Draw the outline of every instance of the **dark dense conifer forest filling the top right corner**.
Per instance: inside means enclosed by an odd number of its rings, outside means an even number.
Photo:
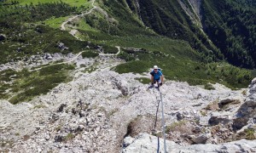
[[[256,66],[255,6],[253,0],[202,1],[204,30],[232,65]]]

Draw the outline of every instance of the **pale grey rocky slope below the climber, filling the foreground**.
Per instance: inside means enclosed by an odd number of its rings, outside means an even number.
[[[135,79],[148,73],[110,71],[118,62],[104,59],[91,73],[78,68],[72,82],[30,102],[1,100],[1,152],[152,152],[157,137],[163,150],[159,91]],[[232,91],[220,84],[206,90],[165,82],[160,92],[167,149],[256,150],[255,140],[245,140],[255,139],[254,86],[255,80],[246,94],[247,89]]]

